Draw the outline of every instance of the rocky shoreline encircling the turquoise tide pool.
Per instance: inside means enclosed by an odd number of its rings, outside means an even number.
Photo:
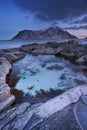
[[[62,119],[63,116],[60,115],[65,114],[66,111],[68,113],[68,110],[73,111],[73,106],[70,105],[73,103],[77,104],[82,96],[87,96],[87,85],[76,86],[76,88],[48,100],[46,103],[34,104],[33,106],[30,103],[23,103],[11,106],[15,97],[11,94],[8,84],[6,84],[6,76],[12,68],[12,63],[23,58],[27,54],[47,54],[67,58],[86,71],[86,50],[87,45],[80,45],[77,40],[62,44],[33,44],[23,45],[20,48],[0,50],[0,130],[63,130],[63,126],[61,126],[63,124],[60,125],[60,123],[54,123],[55,127],[50,127],[50,120],[51,122],[53,118],[57,120],[58,116],[58,118]],[[55,113],[57,113],[58,116],[55,115]],[[70,116],[74,121],[71,126],[68,124],[66,128],[64,126],[64,130],[67,130],[68,128],[70,130],[82,129],[76,121],[75,115]],[[70,117],[67,115],[67,119],[68,118]],[[58,129],[57,125],[60,125]]]

